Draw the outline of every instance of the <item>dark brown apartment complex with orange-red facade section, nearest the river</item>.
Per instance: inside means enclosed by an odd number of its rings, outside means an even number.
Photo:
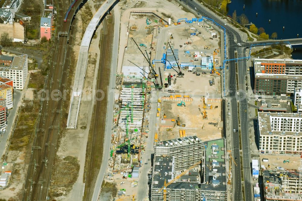
[[[254,59],[254,93],[281,95],[302,87],[302,60]]]

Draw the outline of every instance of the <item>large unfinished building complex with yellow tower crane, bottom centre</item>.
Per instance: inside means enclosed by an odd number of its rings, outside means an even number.
[[[227,200],[224,147],[224,139],[202,142],[196,136],[157,143],[151,200]]]

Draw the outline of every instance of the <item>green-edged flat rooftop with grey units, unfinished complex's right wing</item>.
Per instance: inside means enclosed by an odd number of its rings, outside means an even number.
[[[224,139],[204,142],[204,148],[206,184],[201,184],[201,189],[226,191]]]

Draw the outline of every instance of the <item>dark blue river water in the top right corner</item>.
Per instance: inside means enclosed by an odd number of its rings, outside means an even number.
[[[277,32],[277,39],[302,37],[302,1],[300,0],[231,0],[228,15],[236,10],[237,16],[245,14],[256,27],[263,27],[271,36]],[[243,9],[245,5],[245,9]],[[258,15],[256,16],[256,13]],[[271,22],[269,23],[269,20]],[[283,30],[284,27],[284,30]],[[302,46],[293,46],[294,59],[302,59]],[[296,49],[296,50],[295,50]]]

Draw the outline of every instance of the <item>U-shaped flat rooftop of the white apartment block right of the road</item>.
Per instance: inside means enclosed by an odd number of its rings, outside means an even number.
[[[258,121],[261,121],[262,129],[260,130],[261,135],[293,135],[297,134],[302,136],[302,132],[292,132],[292,131],[272,131],[271,129],[271,119],[270,117],[291,117],[291,118],[302,118],[302,114],[298,113],[270,113],[270,112],[259,112]]]

